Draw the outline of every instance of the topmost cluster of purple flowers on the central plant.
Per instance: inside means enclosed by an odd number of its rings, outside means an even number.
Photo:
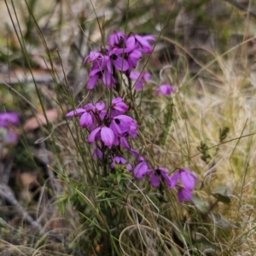
[[[152,36],[139,36],[134,33],[125,35],[123,32],[113,32],[108,37],[106,48],[100,51],[91,51],[84,59],[84,65],[90,61],[90,79],[87,89],[92,90],[96,82],[100,79],[108,88],[113,88],[116,84],[116,70],[125,73],[127,77],[131,74],[131,69],[137,67],[137,61],[142,59],[143,52],[150,54],[152,46],[148,41],[155,41]],[[142,87],[142,83],[138,85]]]

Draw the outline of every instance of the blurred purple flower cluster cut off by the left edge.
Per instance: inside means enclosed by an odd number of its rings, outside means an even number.
[[[19,137],[13,130],[14,126],[19,125],[19,113],[0,113],[0,143],[14,144]]]

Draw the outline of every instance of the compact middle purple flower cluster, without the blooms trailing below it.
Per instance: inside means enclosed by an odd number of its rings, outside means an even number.
[[[90,131],[88,143],[101,141],[106,147],[122,146],[130,148],[128,137],[137,137],[138,125],[134,119],[125,115],[128,106],[120,97],[112,100],[111,108],[106,109],[104,102],[89,103],[84,108],[77,108],[66,114],[66,117],[79,117],[81,127]],[[100,155],[100,154],[97,154]]]

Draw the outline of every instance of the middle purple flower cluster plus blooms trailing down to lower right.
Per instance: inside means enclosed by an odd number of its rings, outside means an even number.
[[[111,149],[114,146],[127,149],[136,158],[136,165],[133,168],[123,156],[115,153],[118,150],[110,150],[108,159],[110,159],[111,169],[114,169],[115,165],[125,165],[125,169],[132,172],[137,179],[148,177],[153,187],[158,187],[161,181],[166,182],[169,189],[177,187],[178,201],[191,200],[191,191],[195,189],[197,180],[195,174],[188,169],[180,169],[170,177],[163,167],[149,169],[143,156],[131,148],[127,139],[137,137],[138,125],[134,119],[125,114],[128,109],[123,99],[117,97],[112,100],[110,108],[106,108],[104,102],[98,102],[96,105],[89,103],[84,108],[77,108],[67,113],[66,117],[79,117],[79,125],[90,132],[87,142],[96,142],[93,152],[96,159],[103,158],[104,147]]]

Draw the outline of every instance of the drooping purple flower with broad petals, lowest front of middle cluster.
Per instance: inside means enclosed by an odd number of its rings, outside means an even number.
[[[88,143],[93,143],[96,140],[102,141],[105,146],[111,148],[114,141],[113,131],[107,126],[97,127],[95,130],[90,132],[90,136],[88,137]]]

